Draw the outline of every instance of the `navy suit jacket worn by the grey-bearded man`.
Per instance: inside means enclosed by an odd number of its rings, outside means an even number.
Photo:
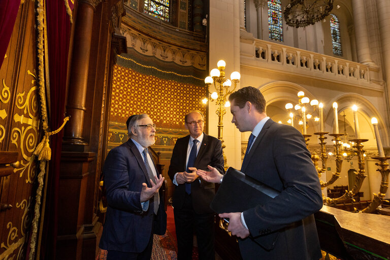
[[[154,165],[150,167],[155,168]],[[161,197],[156,216],[153,216],[153,197],[149,200],[148,210],[142,210],[142,183],[147,183],[148,187],[151,184],[143,157],[132,139],[108,153],[103,174],[108,207],[100,248],[144,251],[152,233],[165,234],[167,214]]]

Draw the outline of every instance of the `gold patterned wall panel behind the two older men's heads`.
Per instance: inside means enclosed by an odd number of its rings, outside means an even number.
[[[186,112],[206,112],[200,104],[204,94],[203,86],[164,80],[115,65],[110,122],[124,124],[131,114],[147,113],[157,127],[183,129]]]

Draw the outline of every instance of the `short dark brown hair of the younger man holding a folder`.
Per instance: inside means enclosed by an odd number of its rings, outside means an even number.
[[[234,104],[239,108],[243,108],[249,101],[259,113],[266,111],[266,100],[260,90],[255,87],[243,87],[233,92],[229,96],[229,101],[234,101]]]

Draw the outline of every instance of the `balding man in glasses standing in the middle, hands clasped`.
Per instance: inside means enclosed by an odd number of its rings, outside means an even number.
[[[168,171],[176,185],[173,211],[178,260],[191,259],[194,228],[199,259],[213,260],[214,212],[210,209],[210,202],[215,196],[215,186],[201,180],[194,171],[207,170],[207,165],[211,165],[223,174],[221,141],[203,133],[204,116],[200,111],[189,112],[184,123],[190,135],[176,141]]]

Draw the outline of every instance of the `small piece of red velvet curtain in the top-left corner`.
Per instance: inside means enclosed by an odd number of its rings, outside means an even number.
[[[0,67],[3,64],[11,34],[14,30],[19,6],[20,0],[1,0],[0,3],[0,39],[2,39],[0,41]]]

